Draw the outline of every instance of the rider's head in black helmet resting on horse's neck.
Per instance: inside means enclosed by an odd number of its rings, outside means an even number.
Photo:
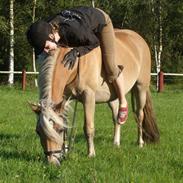
[[[43,20],[33,23],[27,31],[27,40],[34,47],[36,55],[55,50],[59,38],[58,32]]]

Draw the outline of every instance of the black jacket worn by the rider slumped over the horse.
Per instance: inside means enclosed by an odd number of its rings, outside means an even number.
[[[61,11],[48,22],[59,25],[59,43],[74,47],[80,56],[99,46],[98,36],[106,25],[103,13],[91,7]]]

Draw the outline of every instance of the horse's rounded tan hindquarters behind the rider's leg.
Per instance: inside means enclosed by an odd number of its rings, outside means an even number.
[[[126,29],[115,31],[115,35],[116,62],[124,66],[125,86],[142,79],[149,83],[151,56],[145,40],[136,32]]]

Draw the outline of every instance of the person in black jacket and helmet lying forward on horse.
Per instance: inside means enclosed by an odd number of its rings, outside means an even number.
[[[128,116],[122,68],[115,63],[115,35],[112,21],[104,11],[92,7],[63,10],[53,17],[38,20],[27,31],[28,42],[36,55],[49,53],[57,46],[73,47],[63,60],[72,69],[77,57],[89,53],[100,45],[108,82],[113,83],[119,98],[118,123],[124,124]]]

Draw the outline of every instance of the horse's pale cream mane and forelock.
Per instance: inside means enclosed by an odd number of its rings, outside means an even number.
[[[40,122],[40,125],[42,126],[43,131],[48,136],[48,138],[51,138],[60,144],[61,138],[58,133],[53,129],[53,124],[51,124],[51,121],[54,121],[59,126],[66,128],[68,127],[63,120],[65,116],[63,116],[63,119],[61,119],[59,115],[54,112],[54,104],[51,99],[54,68],[56,66],[59,53],[60,49],[57,49],[54,54],[49,55],[45,59],[39,61],[40,65],[38,83],[41,112],[43,114],[43,120]],[[69,101],[66,102],[64,106],[65,113],[67,113],[68,111],[69,103]]]

